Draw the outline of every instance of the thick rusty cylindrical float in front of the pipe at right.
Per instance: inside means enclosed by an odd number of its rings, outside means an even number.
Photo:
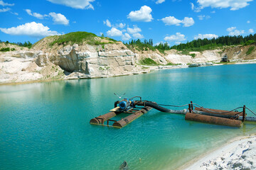
[[[200,115],[195,113],[186,113],[185,120],[192,120],[202,123],[211,123],[215,125],[228,125],[233,127],[240,127],[242,121],[228,118],[218,118],[210,115]]]

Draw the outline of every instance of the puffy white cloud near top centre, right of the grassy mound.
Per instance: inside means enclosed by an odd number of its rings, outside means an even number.
[[[127,18],[131,21],[150,22],[153,20],[151,11],[152,9],[149,6],[142,6],[139,11],[131,11]]]

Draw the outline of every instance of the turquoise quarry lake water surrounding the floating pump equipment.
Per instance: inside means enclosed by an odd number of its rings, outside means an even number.
[[[255,71],[256,64],[240,64],[0,86],[0,169],[119,169],[124,160],[129,169],[176,169],[256,132],[256,124],[230,128],[156,110],[122,129],[90,125],[90,119],[114,107],[114,92],[157,103],[256,111]]]

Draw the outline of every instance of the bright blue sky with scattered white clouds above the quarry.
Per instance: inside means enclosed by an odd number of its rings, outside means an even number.
[[[87,31],[115,40],[175,45],[255,34],[254,0],[0,0],[0,40],[36,42]]]

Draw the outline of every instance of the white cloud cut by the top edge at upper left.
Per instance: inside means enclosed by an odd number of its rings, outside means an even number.
[[[48,1],[54,4],[69,6],[71,8],[94,9],[91,3],[95,0],[48,0]]]

